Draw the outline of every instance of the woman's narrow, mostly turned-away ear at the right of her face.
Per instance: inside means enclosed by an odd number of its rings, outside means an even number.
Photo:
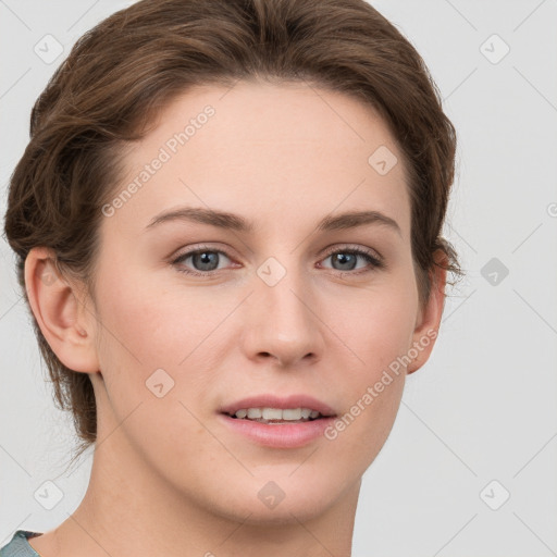
[[[435,252],[435,261],[443,265],[447,263],[447,256],[438,250]],[[416,329],[412,334],[412,352],[418,352],[416,358],[408,364],[407,374],[418,371],[430,358],[433,346],[437,338],[443,308],[445,306],[445,285],[447,272],[443,267],[434,265],[430,272],[431,292],[430,298],[418,312]]]

